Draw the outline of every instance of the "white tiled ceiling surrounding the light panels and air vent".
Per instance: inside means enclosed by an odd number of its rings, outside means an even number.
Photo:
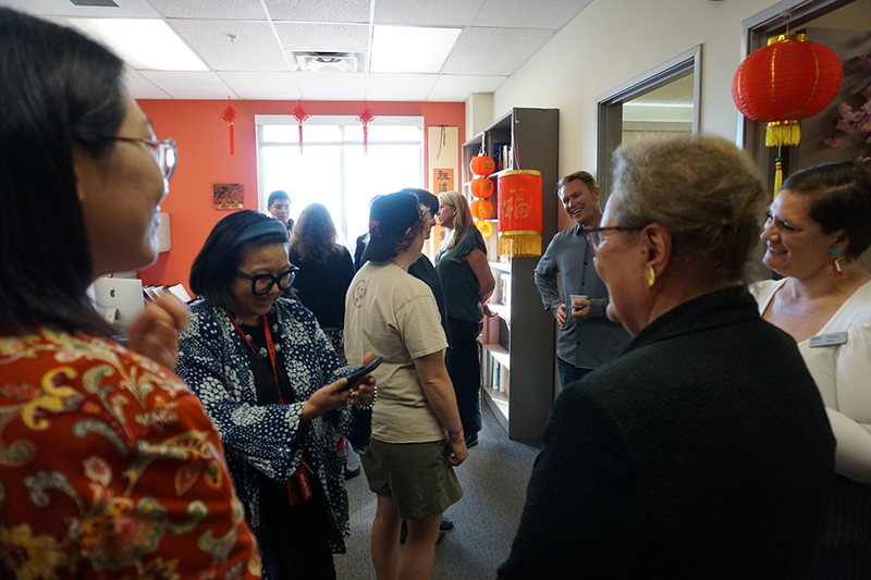
[[[76,0],[87,2],[88,0]],[[130,69],[137,99],[464,101],[492,92],[592,0],[0,0],[68,17],[164,20],[208,72]],[[363,52],[376,24],[462,28],[438,74],[304,72],[290,51]],[[231,36],[235,38],[231,41]]]

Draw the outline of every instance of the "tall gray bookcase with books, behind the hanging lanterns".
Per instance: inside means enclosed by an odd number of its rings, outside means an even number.
[[[512,163],[504,168],[536,170],[542,182],[542,251],[556,233],[559,200],[555,194],[559,171],[560,112],[557,109],[515,108],[487,129],[463,145],[464,193],[469,196],[469,159],[484,152],[493,157],[494,144],[511,146]],[[504,147],[500,147],[504,150]],[[498,168],[499,169],[499,168]],[[498,318],[489,319],[482,341],[483,400],[516,441],[542,436],[553,400],[554,320],[541,304],[533,271],[539,258],[499,261],[496,236],[498,178],[492,176],[494,194],[493,233],[488,238],[496,289],[490,298]],[[504,303],[504,304],[502,304]]]

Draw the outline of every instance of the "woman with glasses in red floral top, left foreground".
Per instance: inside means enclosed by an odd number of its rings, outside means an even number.
[[[127,349],[87,296],[156,259],[175,165],[123,75],[0,8],[0,577],[259,577],[218,433],[168,368],[183,306],[151,305]]]

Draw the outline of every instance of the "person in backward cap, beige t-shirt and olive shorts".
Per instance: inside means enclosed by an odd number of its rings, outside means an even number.
[[[447,347],[430,288],[408,273],[430,217],[407,193],[380,197],[369,212],[364,267],[345,298],[345,354],[383,357],[372,374],[380,397],[361,456],[378,505],[370,550],[379,580],[429,578],[442,513],[463,496],[453,467],[467,457],[444,366]],[[402,520],[408,535],[398,557]]]

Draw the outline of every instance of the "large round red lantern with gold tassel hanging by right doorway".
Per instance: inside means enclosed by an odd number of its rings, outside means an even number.
[[[844,69],[829,47],[809,42],[803,34],[769,39],[751,52],[735,72],[732,98],[751,121],[768,123],[765,145],[798,145],[798,122],[825,109],[841,90]],[[774,193],[783,181],[783,159],[777,156]]]

